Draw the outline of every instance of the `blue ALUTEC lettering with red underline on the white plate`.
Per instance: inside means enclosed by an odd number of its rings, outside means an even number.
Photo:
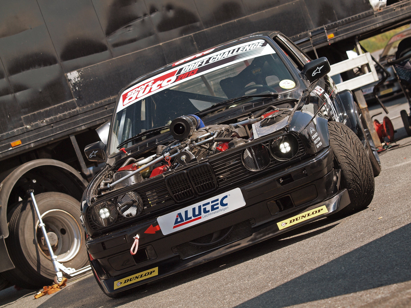
[[[210,202],[205,202],[202,205],[198,205],[198,206],[196,205],[192,207],[191,209],[186,209],[184,211],[184,216],[182,215],[182,212],[177,213],[177,215],[175,216],[175,222],[174,222],[173,229],[178,228],[182,225],[186,225],[187,223],[192,223],[193,221],[197,221],[201,219],[202,214],[207,214],[207,213],[214,212],[217,210],[224,211],[224,209],[220,209],[220,206],[226,207],[228,205],[228,203],[225,202],[227,197],[228,195],[225,195],[221,199],[217,198]]]

